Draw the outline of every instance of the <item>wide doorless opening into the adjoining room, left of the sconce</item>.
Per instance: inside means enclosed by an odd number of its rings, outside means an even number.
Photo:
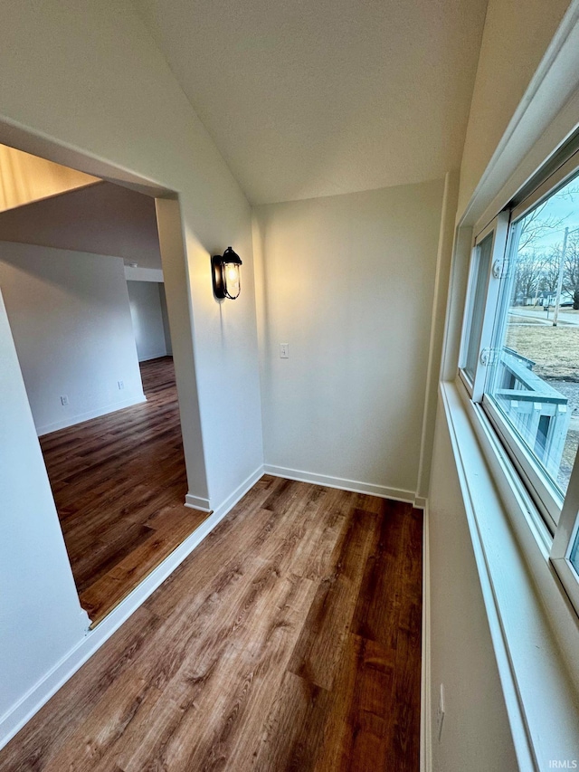
[[[155,199],[7,146],[0,174],[0,286],[94,626],[209,514],[184,504]]]

